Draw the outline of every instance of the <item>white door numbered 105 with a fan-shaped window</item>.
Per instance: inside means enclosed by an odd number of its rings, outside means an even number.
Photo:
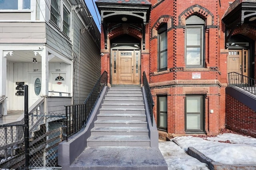
[[[51,85],[49,87],[49,95],[68,96],[67,94],[65,94],[67,92],[66,82],[66,73],[51,73]]]

